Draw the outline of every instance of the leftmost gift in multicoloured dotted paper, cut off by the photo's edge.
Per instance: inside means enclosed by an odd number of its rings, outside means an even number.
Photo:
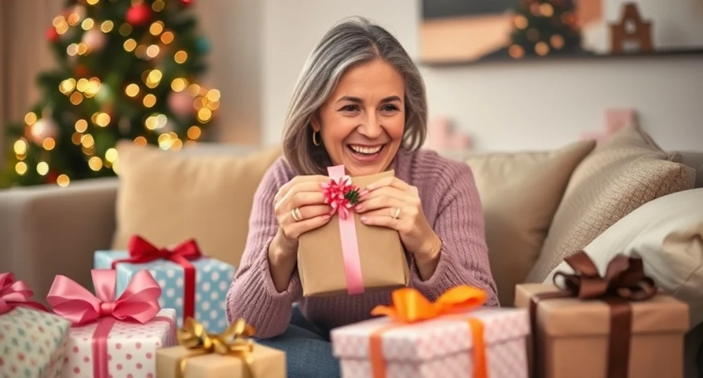
[[[0,377],[60,377],[70,322],[31,301],[32,289],[0,273]]]

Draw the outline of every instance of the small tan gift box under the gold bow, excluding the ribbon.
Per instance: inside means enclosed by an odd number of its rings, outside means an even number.
[[[156,376],[176,378],[179,375],[181,358],[187,356],[183,378],[285,378],[285,353],[278,349],[254,344],[250,352],[251,370],[246,369],[242,358],[222,356],[217,353],[197,355],[184,346],[160,348],[156,351]],[[251,372],[251,374],[248,374]]]

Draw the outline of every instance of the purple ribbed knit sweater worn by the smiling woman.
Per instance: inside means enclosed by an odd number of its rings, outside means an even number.
[[[472,285],[488,293],[486,306],[498,306],[481,202],[467,164],[429,150],[412,153],[401,150],[392,168],[396,177],[418,188],[425,217],[443,243],[437,270],[428,280],[420,278],[411,259],[410,286],[434,300],[456,285]],[[295,301],[299,301],[308,320],[329,328],[366,320],[371,318],[372,308],[390,304],[390,292],[304,298],[297,269],[288,289],[280,293],[276,290],[267,257],[269,244],[278,230],[273,197],[294,176],[290,166],[280,158],[262,178],[254,195],[247,245],[227,293],[228,321],[244,318],[256,327],[256,337],[262,339],[285,332]]]

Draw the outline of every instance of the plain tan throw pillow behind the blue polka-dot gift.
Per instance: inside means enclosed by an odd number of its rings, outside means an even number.
[[[157,247],[193,237],[203,253],[238,266],[254,192],[281,153],[276,147],[247,155],[192,155],[119,143],[112,248],[124,249],[134,234]]]

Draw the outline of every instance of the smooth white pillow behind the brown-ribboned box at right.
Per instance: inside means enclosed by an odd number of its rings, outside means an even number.
[[[600,274],[616,254],[638,253],[657,286],[688,304],[691,327],[703,322],[703,188],[643,204],[583,250]],[[573,273],[562,261],[544,282],[551,283],[557,271]]]

